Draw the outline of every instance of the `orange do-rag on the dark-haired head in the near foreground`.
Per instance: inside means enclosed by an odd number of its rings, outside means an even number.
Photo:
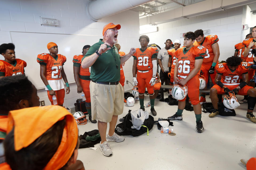
[[[15,126],[14,149],[19,151],[33,143],[57,121],[63,119],[66,120],[66,125],[63,130],[61,143],[44,168],[44,170],[57,170],[68,162],[74,152],[78,139],[77,123],[67,109],[51,105],[10,111],[7,133]]]

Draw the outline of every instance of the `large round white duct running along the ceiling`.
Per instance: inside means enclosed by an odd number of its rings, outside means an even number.
[[[152,0],[151,0],[152,1]],[[86,6],[87,15],[94,21],[143,5],[150,0],[97,0]]]

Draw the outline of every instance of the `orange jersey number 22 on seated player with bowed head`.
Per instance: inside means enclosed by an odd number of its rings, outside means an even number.
[[[247,62],[242,62],[234,71],[229,69],[227,63],[218,64],[215,69],[217,74],[221,74],[221,82],[224,85],[238,85],[240,84],[240,76],[246,74],[248,70],[245,68],[248,65]]]

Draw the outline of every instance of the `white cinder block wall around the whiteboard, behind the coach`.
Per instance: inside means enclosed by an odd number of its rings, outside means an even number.
[[[0,44],[11,43],[10,31],[18,31],[91,35],[95,36],[95,40],[88,42],[87,44],[93,45],[99,41],[98,38],[96,38],[97,36],[102,37],[103,26],[113,22],[114,24],[121,25],[121,29],[118,33],[118,42],[121,45],[121,51],[128,53],[131,47],[139,47],[138,12],[131,10],[124,11],[116,15],[106,17],[99,22],[94,22],[86,14],[85,9],[87,3],[89,3],[88,0],[1,0]],[[57,18],[59,20],[59,27],[40,25],[39,16]],[[15,42],[12,43],[15,44]],[[19,44],[15,45],[18,46]],[[81,48],[83,45],[85,44],[78,44]],[[33,47],[28,47],[28,49],[24,50],[29,52],[29,48]],[[17,56],[18,53],[19,52],[16,51]],[[63,53],[63,55],[65,54]],[[23,58],[22,56],[18,56],[18,58],[26,61],[26,58]],[[1,56],[0,59],[3,60],[4,58]],[[38,63],[35,61],[35,64]],[[132,65],[133,58],[130,58],[123,67],[126,77],[125,80],[129,80],[130,82],[132,82],[133,77],[131,70]],[[29,65],[27,67],[29,67]],[[29,75],[29,73],[26,74]],[[125,90],[129,90],[131,88],[131,84],[125,84]],[[70,90],[70,94],[65,95],[63,105],[67,107],[74,107],[76,99],[79,98],[75,83],[70,84]],[[50,104],[45,90],[38,90],[38,96],[40,97],[40,101],[45,100],[46,105]]]

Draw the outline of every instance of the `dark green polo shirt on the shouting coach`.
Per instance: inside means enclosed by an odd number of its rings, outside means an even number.
[[[82,58],[88,57],[95,53],[99,49],[101,44],[104,44],[102,39],[99,39],[98,43],[93,44],[88,52]],[[107,46],[110,47],[110,46]],[[107,50],[101,56],[97,58],[94,64],[91,66],[90,78],[96,82],[117,82],[120,80],[120,56],[117,48],[113,45],[111,49]]]

